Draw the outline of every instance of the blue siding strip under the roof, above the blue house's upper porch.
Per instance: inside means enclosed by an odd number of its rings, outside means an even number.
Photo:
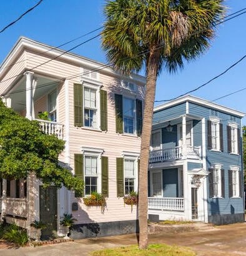
[[[180,105],[170,107],[169,109],[164,109],[162,111],[155,112],[153,115],[153,124],[184,115],[185,111],[186,104],[182,103]]]

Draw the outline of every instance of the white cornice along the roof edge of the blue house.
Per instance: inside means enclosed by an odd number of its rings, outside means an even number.
[[[245,113],[240,112],[240,111],[235,111],[235,109],[230,109],[230,107],[225,107],[219,104],[216,104],[214,102],[210,102],[207,101],[205,99],[200,99],[199,97],[195,97],[195,96],[184,96],[184,97],[180,97],[179,99],[175,99],[174,101],[170,101],[164,104],[161,104],[157,107],[154,107],[154,112],[158,112],[161,111],[163,109],[167,109],[169,107],[173,107],[175,105],[179,105],[185,102],[191,102],[191,103],[195,103],[197,105],[200,106],[205,106],[205,107],[211,107],[212,109],[216,109],[218,111],[222,111],[222,112],[226,112],[229,114],[232,114],[234,116],[239,116],[239,117],[244,117]]]

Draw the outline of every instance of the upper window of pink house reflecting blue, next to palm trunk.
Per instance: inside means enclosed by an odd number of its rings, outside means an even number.
[[[135,133],[135,100],[123,98],[124,133]]]

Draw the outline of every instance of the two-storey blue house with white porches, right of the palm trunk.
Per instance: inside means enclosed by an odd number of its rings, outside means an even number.
[[[155,107],[149,219],[244,222],[242,117],[193,96]]]

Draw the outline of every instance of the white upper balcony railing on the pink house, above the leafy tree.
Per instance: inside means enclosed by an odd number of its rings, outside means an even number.
[[[58,139],[63,139],[63,128],[64,125],[59,122],[51,122],[42,119],[36,119],[39,122],[41,130],[49,135],[56,135]]]

